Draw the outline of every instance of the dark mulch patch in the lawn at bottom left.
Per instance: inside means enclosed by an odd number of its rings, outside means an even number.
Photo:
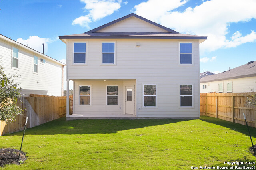
[[[20,160],[18,160],[20,154]],[[6,164],[22,164],[27,159],[24,152],[18,149],[0,149],[0,167]]]

